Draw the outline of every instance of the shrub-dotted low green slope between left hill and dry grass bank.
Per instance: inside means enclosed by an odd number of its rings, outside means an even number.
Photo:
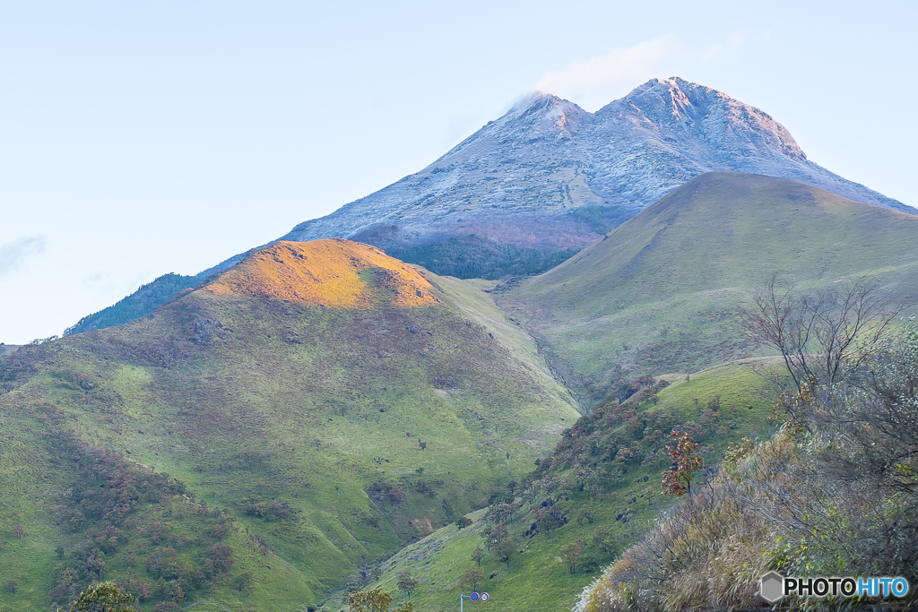
[[[517,544],[515,556],[508,567],[492,547],[482,559],[485,579],[477,587],[491,601],[466,601],[465,606],[570,609],[602,567],[639,540],[659,511],[673,503],[660,495],[660,474],[670,463],[665,447],[671,443],[666,437],[671,428],[692,431],[711,466],[722,460],[728,443],[749,436],[765,440],[773,433],[772,397],[765,380],[752,370],[753,363],[722,365],[691,376],[689,382],[684,374],[672,374],[659,379],[672,383],[650,382],[621,405],[607,397],[565,430],[554,453],[520,480],[514,495],[496,489],[491,493],[494,505],[469,515],[470,527],[450,525],[399,551],[380,567],[372,585],[404,601],[406,596],[397,592],[397,573],[409,570],[420,582],[411,595],[419,609],[452,609],[460,593],[469,593],[459,581],[476,564],[473,551],[485,547],[483,536],[504,520]],[[511,517],[499,518],[499,504],[511,497]],[[549,521],[555,527],[546,530],[543,521],[546,516],[554,519],[551,513],[562,518]],[[571,573],[563,549],[577,540],[586,548]],[[346,607],[343,595],[329,602],[330,609]]]

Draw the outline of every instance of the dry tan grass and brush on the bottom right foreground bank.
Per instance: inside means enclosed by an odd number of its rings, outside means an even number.
[[[913,580],[913,495],[877,486],[869,473],[831,473],[838,451],[837,441],[822,434],[782,429],[625,551],[584,590],[575,610],[758,607],[758,579],[770,570]],[[913,473],[913,457],[907,469]],[[782,603],[840,605],[832,597]]]

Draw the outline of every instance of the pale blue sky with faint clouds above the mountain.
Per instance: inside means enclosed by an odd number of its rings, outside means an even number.
[[[681,76],[918,206],[918,3],[0,0],[0,341],[399,178],[533,90]]]

